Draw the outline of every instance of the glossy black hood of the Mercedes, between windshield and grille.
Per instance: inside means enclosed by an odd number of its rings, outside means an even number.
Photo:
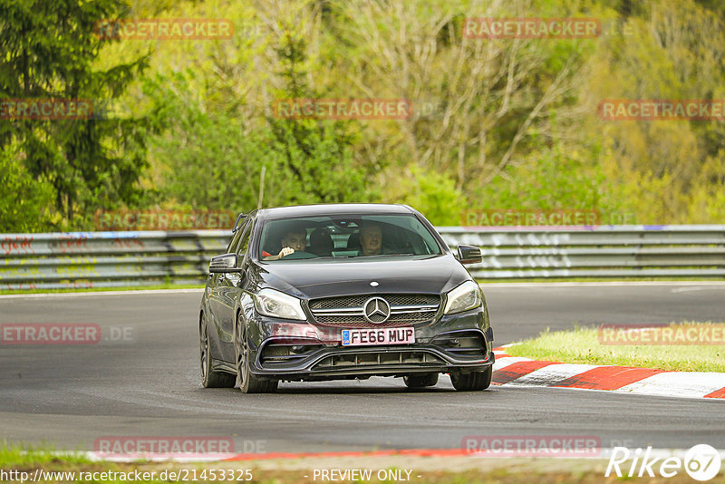
[[[443,293],[469,280],[451,255],[266,264],[264,286],[304,299],[375,293]],[[371,286],[377,282],[377,286]]]

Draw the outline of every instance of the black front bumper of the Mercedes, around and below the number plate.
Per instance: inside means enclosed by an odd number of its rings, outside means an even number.
[[[343,346],[343,328],[260,319],[251,372],[279,380],[333,380],[411,373],[484,371],[494,363],[493,331],[482,309],[443,316],[415,328],[416,343]],[[296,328],[296,329],[295,329]],[[255,348],[256,346],[256,348]]]

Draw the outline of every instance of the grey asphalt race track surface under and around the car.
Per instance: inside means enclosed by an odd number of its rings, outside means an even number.
[[[455,392],[448,378],[424,392],[384,378],[283,383],[268,395],[205,390],[200,293],[0,297],[0,324],[99,324],[104,338],[0,345],[0,440],[92,450],[110,436],[224,436],[237,451],[270,452],[459,448],[470,435],[566,434],[596,436],[604,447],[725,449],[725,402],[707,399],[535,387]],[[485,293],[497,344],[575,324],[725,321],[725,283],[499,285]],[[124,330],[128,341],[105,340]]]

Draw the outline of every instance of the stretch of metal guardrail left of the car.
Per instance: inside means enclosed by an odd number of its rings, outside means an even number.
[[[229,230],[0,236],[0,289],[203,284]]]

